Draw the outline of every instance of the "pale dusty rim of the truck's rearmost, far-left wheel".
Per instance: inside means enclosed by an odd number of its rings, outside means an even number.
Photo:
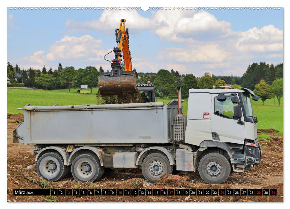
[[[47,156],[42,159],[41,164],[41,174],[46,179],[53,179],[55,176],[58,175],[60,170],[60,164],[56,158]]]

